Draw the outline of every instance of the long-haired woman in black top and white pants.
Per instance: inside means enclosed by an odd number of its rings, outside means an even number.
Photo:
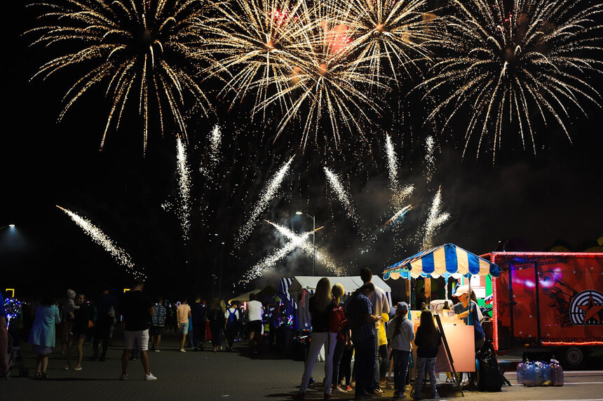
[[[312,369],[320,348],[325,346],[325,400],[331,397],[331,379],[333,375],[333,351],[337,344],[337,333],[329,331],[329,318],[335,304],[331,298],[331,283],[326,277],[318,280],[316,292],[308,302],[310,318],[312,322],[312,336],[310,341],[310,351],[302,378],[302,386],[299,387],[299,393],[295,396],[297,399],[306,397],[306,389],[312,375]]]

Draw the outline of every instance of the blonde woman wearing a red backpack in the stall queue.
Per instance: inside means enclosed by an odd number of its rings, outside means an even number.
[[[333,296],[333,304],[336,305],[336,309],[331,313],[329,320],[329,331],[337,333],[337,344],[333,352],[333,378],[331,383],[332,393],[347,393],[346,390],[341,388],[339,380],[339,365],[341,364],[341,356],[344,355],[344,348],[346,344],[350,343],[350,329],[347,327],[346,313],[344,311],[343,303],[341,303],[341,297],[345,294],[344,286],[340,283],[334,284],[331,288],[331,295]]]

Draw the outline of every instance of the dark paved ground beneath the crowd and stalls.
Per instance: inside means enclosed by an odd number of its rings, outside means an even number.
[[[0,401],[19,400],[291,400],[299,390],[304,363],[282,359],[267,346],[262,353],[251,357],[245,343],[237,342],[235,352],[213,353],[211,344],[205,351],[179,352],[177,339],[168,334],[162,339],[161,353],[149,353],[151,372],[157,381],[144,381],[140,360],[130,361],[128,381],[119,381],[121,374],[121,345],[116,337],[109,348],[105,362],[89,361],[92,349],[85,343],[81,371],[63,369],[65,355],[60,347],[50,355],[50,379],[32,379],[35,357],[24,345],[22,367],[29,377],[18,377],[18,367],[13,368],[13,378],[0,379]],[[321,381],[324,364],[317,363],[313,376]],[[600,367],[599,367],[600,369]],[[515,372],[506,374],[513,383]],[[393,389],[386,388],[380,400],[391,400]],[[438,384],[442,399],[462,397],[445,383]],[[408,396],[406,400],[412,400]],[[602,400],[603,371],[566,372],[563,387],[524,386],[503,387],[500,393],[464,391],[467,400]],[[307,400],[322,400],[320,385],[311,386]],[[333,395],[333,400],[352,400],[353,393]]]

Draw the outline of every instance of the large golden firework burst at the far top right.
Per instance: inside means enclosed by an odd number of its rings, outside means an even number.
[[[452,119],[470,110],[466,153],[477,136],[477,157],[491,146],[493,162],[507,124],[536,154],[535,121],[556,123],[571,141],[564,119],[571,109],[584,113],[581,100],[600,107],[599,93],[586,79],[601,62],[603,7],[586,0],[454,1],[456,14],[445,18],[443,47],[452,57],[435,59],[433,77],[419,84],[435,100],[427,117]],[[464,118],[464,116],[463,116]],[[486,143],[486,145],[485,145]]]

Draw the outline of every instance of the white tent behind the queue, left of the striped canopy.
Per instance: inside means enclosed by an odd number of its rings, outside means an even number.
[[[292,283],[289,285],[288,292],[292,299],[297,303],[297,324],[299,329],[310,327],[310,312],[308,310],[308,300],[311,294],[316,290],[316,284],[320,276],[295,276]],[[346,294],[351,294],[358,288],[362,287],[363,280],[360,276],[341,276],[341,277],[327,277],[331,283],[341,283],[344,286]],[[373,276],[371,282],[384,290],[386,293],[387,301],[391,307],[391,287],[387,285],[384,280],[381,280],[379,276]]]

